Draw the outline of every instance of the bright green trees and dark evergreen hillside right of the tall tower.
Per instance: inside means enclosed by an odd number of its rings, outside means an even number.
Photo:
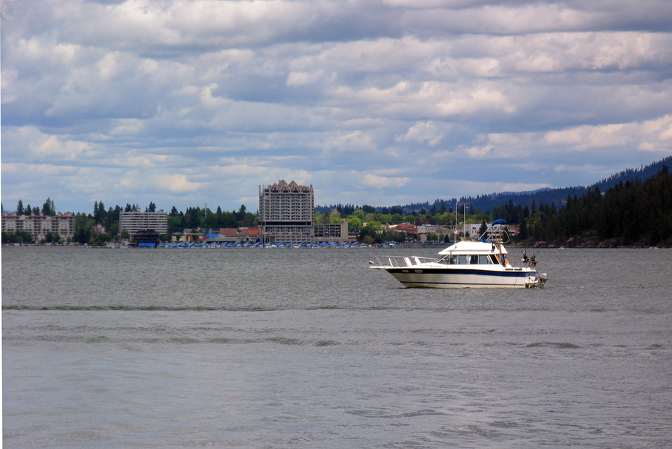
[[[672,175],[668,166],[663,166],[647,180],[619,181],[606,192],[591,187],[585,194],[568,195],[557,205],[531,201],[530,206],[522,206],[510,200],[492,211],[474,211],[467,205],[453,211],[442,203],[430,211],[422,208],[413,213],[400,213],[400,208],[374,212],[357,208],[348,216],[350,231],[376,241],[398,240],[398,236],[384,234],[384,224],[409,222],[452,228],[456,220],[482,223],[498,218],[503,218],[509,227],[517,226],[515,239],[529,245],[547,242],[603,247],[672,246]],[[457,227],[461,228],[461,224]]]

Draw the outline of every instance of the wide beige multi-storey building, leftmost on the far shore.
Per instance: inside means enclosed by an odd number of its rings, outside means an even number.
[[[2,231],[8,234],[28,232],[34,242],[45,240],[48,233],[58,234],[59,238],[67,240],[75,235],[75,214],[66,212],[52,216],[6,213],[2,215]]]

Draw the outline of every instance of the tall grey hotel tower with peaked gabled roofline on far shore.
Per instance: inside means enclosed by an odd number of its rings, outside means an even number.
[[[304,242],[315,236],[313,186],[280,180],[259,186],[259,227],[264,241]]]

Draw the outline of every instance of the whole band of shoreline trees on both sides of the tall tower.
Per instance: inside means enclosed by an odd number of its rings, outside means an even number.
[[[605,192],[594,185],[583,194],[568,194],[557,203],[538,203],[533,199],[529,205],[522,205],[509,199],[507,204],[495,206],[491,211],[475,208],[473,204],[458,204],[457,211],[454,211],[452,206],[454,203],[440,200],[430,208],[423,206],[419,211],[406,212],[402,206],[383,208],[337,204],[316,208],[315,222],[334,223],[347,218],[349,232],[358,234],[360,239],[402,241],[414,236],[401,236],[387,231],[385,224],[409,222],[460,229],[461,222],[482,223],[503,218],[510,227],[517,225],[517,239],[526,244],[545,241],[556,245],[672,246],[672,175],[667,165],[662,166],[651,178],[621,180]],[[136,204],[126,204],[125,208],[106,208],[102,201],[96,201],[93,213],[76,214],[73,241],[104,244],[115,238],[127,238],[119,234],[120,212],[135,211],[138,207]],[[145,208],[147,212],[155,210],[154,203]],[[51,199],[47,199],[42,208],[24,207],[22,201],[19,201],[16,212],[25,215],[56,213]],[[101,224],[105,231],[97,224]],[[254,227],[257,224],[258,216],[248,212],[244,205],[238,211],[230,212],[222,211],[220,207],[214,212],[199,207],[187,208],[182,212],[173,206],[168,213],[169,232],[163,238],[167,239],[170,234],[180,233],[184,229]],[[29,235],[17,234],[10,236],[3,233],[3,242],[27,241],[29,238]],[[446,235],[436,237],[445,239]],[[59,236],[49,237],[52,241],[59,241]]]

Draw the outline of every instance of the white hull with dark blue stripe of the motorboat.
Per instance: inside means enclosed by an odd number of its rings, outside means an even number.
[[[483,270],[466,268],[385,268],[406,287],[423,288],[525,288],[542,281],[528,269]]]

